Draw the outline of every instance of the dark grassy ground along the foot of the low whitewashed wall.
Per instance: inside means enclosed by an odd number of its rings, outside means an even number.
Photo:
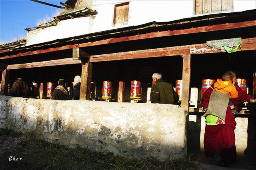
[[[2,135],[2,134],[1,134]],[[90,169],[90,170],[196,170],[198,163],[188,156],[178,160],[160,162],[154,158],[131,158],[102,154],[86,148],[67,148],[54,142],[36,139],[26,133],[26,145],[1,153],[0,169]],[[7,136],[8,137],[8,136]],[[24,138],[24,137],[22,137]],[[9,161],[10,155],[22,161]]]

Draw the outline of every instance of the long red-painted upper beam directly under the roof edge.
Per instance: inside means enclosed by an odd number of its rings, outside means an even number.
[[[99,40],[95,42],[86,42],[86,43],[72,44],[72,45],[70,44],[66,46],[48,48],[44,50],[19,52],[18,54],[14,54],[10,56],[2,56],[0,57],[0,59],[42,54],[42,53],[67,50],[72,48],[82,48],[82,47],[96,46],[96,45],[102,45],[102,44],[111,44],[116,42],[126,42],[131,40],[143,40],[148,38],[159,38],[159,37],[174,36],[174,35],[193,34],[198,32],[211,32],[211,31],[219,31],[219,30],[230,30],[230,29],[236,29],[236,28],[246,28],[246,27],[253,27],[255,25],[256,25],[256,21],[253,20],[253,21],[244,21],[244,22],[236,22],[236,23],[216,24],[211,26],[201,26],[197,28],[188,28],[184,30],[157,31],[157,32],[150,32],[147,34],[139,34],[134,36],[108,38],[106,40]],[[2,54],[3,52],[0,51],[0,53]]]

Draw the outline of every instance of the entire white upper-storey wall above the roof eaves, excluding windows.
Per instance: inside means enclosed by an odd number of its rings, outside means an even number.
[[[115,5],[124,2],[129,2],[128,24],[113,26]],[[254,0],[234,0],[232,12],[255,8]],[[195,16],[193,0],[94,0],[92,9],[98,14],[63,20],[57,26],[28,32],[26,46],[152,21],[168,22]]]

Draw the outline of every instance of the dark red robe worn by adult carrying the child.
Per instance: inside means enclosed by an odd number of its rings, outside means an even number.
[[[214,88],[214,85],[212,86]],[[246,94],[237,83],[235,83],[235,87],[238,92],[238,98],[231,100],[234,102],[234,106],[237,110],[237,106],[242,104],[244,100],[249,102],[253,97]],[[204,92],[204,96],[202,97],[203,108],[208,107],[211,93],[212,88],[208,88]],[[227,164],[236,163],[235,118],[236,117],[232,115],[230,107],[228,107],[225,124],[216,126],[206,125],[204,132],[204,153],[206,157],[220,153],[222,160],[226,161]]]

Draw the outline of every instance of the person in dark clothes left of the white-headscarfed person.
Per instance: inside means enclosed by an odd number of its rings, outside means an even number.
[[[68,89],[65,87],[65,80],[60,79],[58,86],[54,89],[52,94],[53,100],[70,100],[71,97],[68,93]]]

